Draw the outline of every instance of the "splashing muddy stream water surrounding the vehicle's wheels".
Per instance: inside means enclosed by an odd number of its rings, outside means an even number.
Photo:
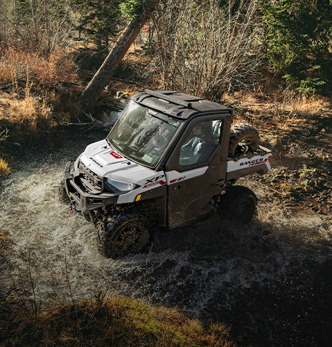
[[[107,260],[91,223],[58,201],[67,160],[106,133],[65,130],[21,150],[14,181],[0,191],[0,228],[14,240],[1,291],[38,301],[91,298],[96,291],[175,305],[205,323],[224,321],[241,345],[330,346],[331,219],[285,206],[247,179],[259,197],[247,226],[214,215],[187,228],[158,232],[150,253]],[[234,218],[234,222],[236,218]],[[26,293],[24,293],[26,291]]]

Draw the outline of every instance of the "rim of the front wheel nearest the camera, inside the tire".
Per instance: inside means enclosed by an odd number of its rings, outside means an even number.
[[[134,251],[137,250],[143,241],[144,226],[141,222],[127,223],[120,230],[114,244],[121,250]]]

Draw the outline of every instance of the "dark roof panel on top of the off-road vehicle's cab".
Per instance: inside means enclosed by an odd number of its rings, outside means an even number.
[[[148,108],[166,113],[166,115],[181,119],[207,113],[231,113],[229,108],[225,108],[225,106],[218,103],[170,90],[158,90],[156,92],[144,90],[144,92],[134,94],[132,100]]]

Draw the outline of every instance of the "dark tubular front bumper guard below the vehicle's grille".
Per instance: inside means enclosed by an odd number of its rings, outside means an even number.
[[[104,192],[93,194],[83,185],[80,178],[80,170],[74,171],[73,162],[67,162],[64,169],[64,189],[74,210],[83,213],[117,203],[119,194]]]

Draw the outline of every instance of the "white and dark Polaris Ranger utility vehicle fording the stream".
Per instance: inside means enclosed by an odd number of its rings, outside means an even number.
[[[234,183],[266,174],[272,153],[255,128],[232,120],[195,96],[135,94],[106,139],[67,163],[60,196],[94,223],[106,257],[143,251],[152,226],[185,226],[214,210],[250,221],[256,196]]]

